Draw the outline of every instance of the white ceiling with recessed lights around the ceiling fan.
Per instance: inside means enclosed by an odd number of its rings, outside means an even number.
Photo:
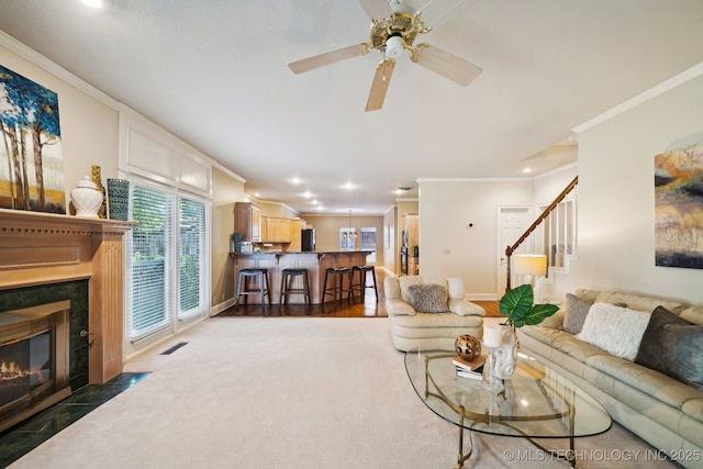
[[[323,213],[383,213],[417,178],[562,166],[571,129],[703,62],[701,0],[467,0],[422,41],[483,74],[462,88],[401,57],[365,113],[380,53],[287,67],[368,41],[357,1],[112,3],[2,0],[0,29],[301,213],[305,190]]]

